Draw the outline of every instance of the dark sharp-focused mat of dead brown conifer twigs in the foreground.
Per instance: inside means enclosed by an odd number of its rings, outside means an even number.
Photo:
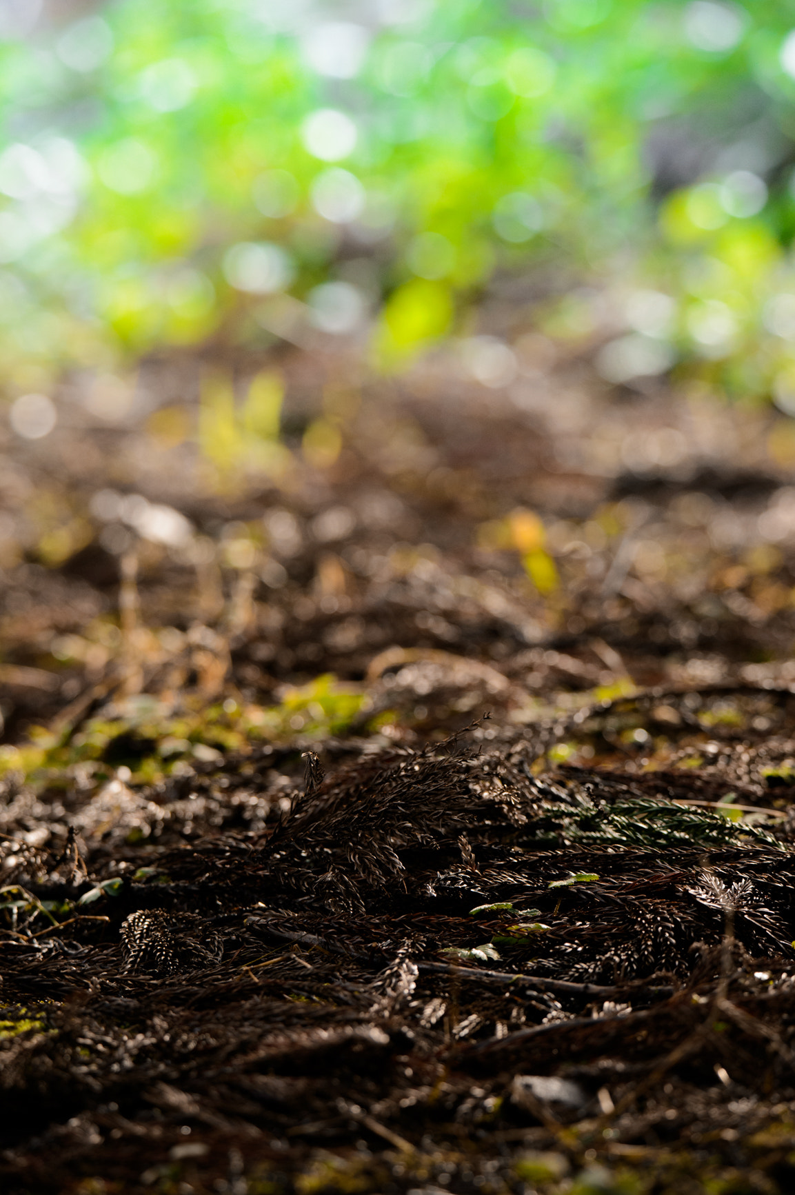
[[[795,1064],[791,852],[481,733],[310,770],[258,834],[123,860],[6,839],[6,1181],[212,1189],[232,1156],[300,1187],[311,1156],[320,1189],[520,1189],[649,1139],[769,1153],[747,1138],[782,1132]]]

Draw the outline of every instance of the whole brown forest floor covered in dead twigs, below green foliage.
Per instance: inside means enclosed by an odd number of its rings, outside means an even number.
[[[791,422],[280,366],[0,430],[2,1190],[791,1190]]]

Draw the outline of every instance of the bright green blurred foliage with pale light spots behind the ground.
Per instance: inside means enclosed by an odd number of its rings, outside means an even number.
[[[609,380],[685,361],[795,412],[793,0],[23,10],[0,6],[12,387],[369,314],[391,367],[533,266],[556,283],[532,319],[601,343]]]

